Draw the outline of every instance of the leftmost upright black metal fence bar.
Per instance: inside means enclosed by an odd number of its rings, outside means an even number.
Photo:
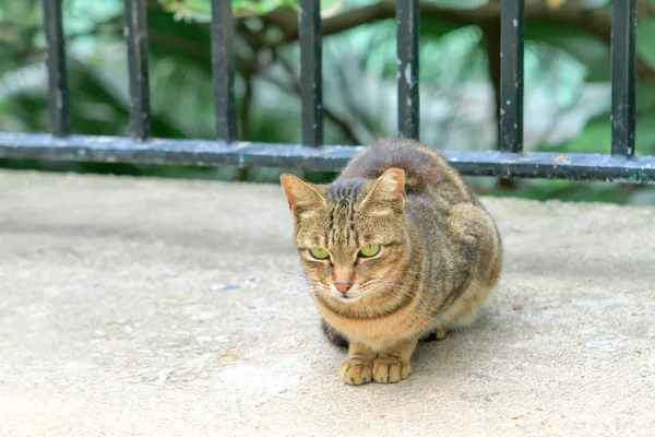
[[[61,0],[44,0],[46,63],[48,67],[48,111],[50,132],[55,137],[71,133],[66,48],[61,25]]]

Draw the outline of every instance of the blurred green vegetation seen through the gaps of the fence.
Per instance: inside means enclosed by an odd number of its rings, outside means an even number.
[[[325,141],[394,135],[395,3],[323,0]],[[500,0],[422,0],[421,141],[444,150],[497,146]],[[526,0],[525,147],[610,149],[608,0]],[[638,8],[638,153],[655,153],[655,0]],[[297,1],[233,0],[239,138],[300,141]],[[148,0],[154,134],[214,138],[210,0]],[[66,0],[73,129],[127,134],[122,0]],[[0,1],[0,130],[48,130],[40,1]],[[278,169],[180,168],[2,161],[10,168],[273,181]],[[331,175],[308,175],[325,180]],[[471,179],[483,193],[655,204],[652,188]]]

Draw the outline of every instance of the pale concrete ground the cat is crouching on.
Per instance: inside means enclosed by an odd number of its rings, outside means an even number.
[[[485,203],[480,319],[348,387],[279,187],[0,172],[0,435],[655,435],[655,209]]]

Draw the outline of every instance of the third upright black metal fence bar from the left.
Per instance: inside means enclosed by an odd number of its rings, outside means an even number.
[[[216,138],[227,142],[236,141],[238,138],[234,42],[231,0],[212,0],[212,69]]]

